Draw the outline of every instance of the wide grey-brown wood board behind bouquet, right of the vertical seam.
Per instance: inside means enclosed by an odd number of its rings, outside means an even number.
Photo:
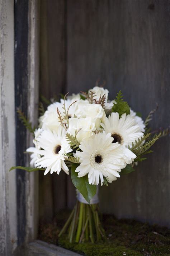
[[[169,8],[168,0],[67,1],[66,91],[106,80],[110,99],[121,89],[143,118],[158,103],[151,126],[168,127]],[[136,172],[100,189],[101,210],[170,226],[169,167],[166,137]]]

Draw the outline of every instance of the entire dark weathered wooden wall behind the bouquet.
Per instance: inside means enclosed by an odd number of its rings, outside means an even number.
[[[42,0],[40,92],[79,92],[100,78],[111,99],[121,89],[144,118],[158,103],[151,126],[168,127],[169,8],[168,0]],[[136,172],[100,188],[102,212],[170,226],[169,167],[166,137]],[[64,174],[47,177],[52,217],[74,206],[75,190]]]

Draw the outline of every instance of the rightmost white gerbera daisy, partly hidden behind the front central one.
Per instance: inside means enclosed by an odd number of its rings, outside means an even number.
[[[143,136],[141,128],[136,124],[134,118],[126,115],[126,113],[119,118],[117,112],[112,113],[108,118],[105,118],[104,123],[101,123],[101,127],[103,127],[105,132],[111,133],[111,136],[114,138],[113,143],[118,142],[124,147],[126,163],[132,163],[136,155],[127,147],[132,147],[132,142]]]

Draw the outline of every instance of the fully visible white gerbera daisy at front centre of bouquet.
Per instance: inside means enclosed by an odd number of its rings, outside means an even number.
[[[85,138],[80,143],[80,151],[76,151],[75,156],[79,158],[80,165],[76,168],[78,177],[88,174],[89,184],[103,184],[103,176],[109,182],[120,177],[119,172],[126,167],[123,159],[123,147],[117,143],[112,143],[111,134],[105,132],[95,134],[94,137]]]

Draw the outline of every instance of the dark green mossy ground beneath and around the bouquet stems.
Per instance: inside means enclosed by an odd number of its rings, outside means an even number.
[[[105,215],[103,226],[107,242],[70,244],[65,236],[57,237],[68,216],[69,212],[60,212],[52,223],[41,223],[39,239],[87,256],[170,256],[170,229],[166,227],[151,226],[135,220],[117,220],[114,216]]]

